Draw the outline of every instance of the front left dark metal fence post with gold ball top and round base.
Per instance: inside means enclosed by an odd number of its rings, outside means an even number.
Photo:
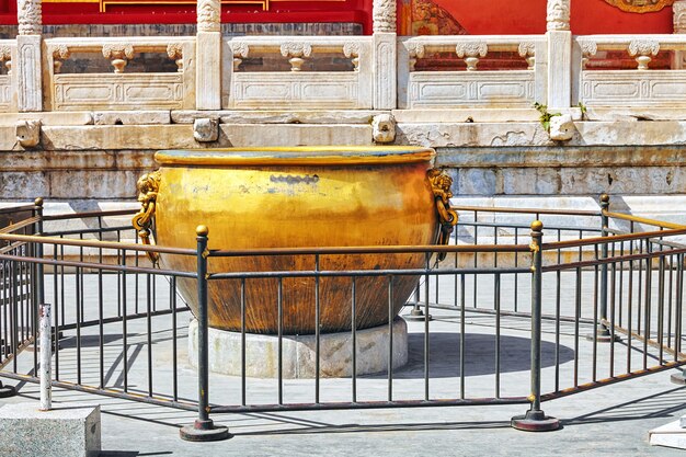
[[[229,430],[215,426],[209,419],[209,361],[207,340],[207,233],[206,226],[197,226],[197,415],[193,425],[179,431],[188,442],[214,442],[229,437]]]

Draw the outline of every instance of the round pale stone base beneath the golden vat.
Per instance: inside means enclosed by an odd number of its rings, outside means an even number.
[[[209,370],[241,375],[241,334],[209,328]],[[356,332],[357,375],[386,372],[388,367],[388,325]],[[284,335],[282,339],[284,379],[313,378],[316,370],[315,335]],[[352,332],[322,333],[319,336],[319,375],[343,378],[353,375]],[[393,369],[408,363],[408,325],[393,321]],[[197,366],[197,321],[188,325],[188,362]],[[278,336],[245,334],[245,376],[278,377]]]

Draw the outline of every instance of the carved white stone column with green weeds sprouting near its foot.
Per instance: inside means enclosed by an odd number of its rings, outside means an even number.
[[[552,108],[570,107],[572,102],[572,32],[570,1],[548,0],[548,101]]]

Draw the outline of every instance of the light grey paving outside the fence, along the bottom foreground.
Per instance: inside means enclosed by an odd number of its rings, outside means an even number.
[[[35,386],[20,390],[9,401],[36,401]],[[648,431],[686,413],[686,389],[659,374],[545,403],[563,421],[557,432],[510,429],[522,407],[264,413],[217,416],[233,437],[197,444],[178,437],[191,413],[70,391],[55,392],[55,400],[102,404],[102,455],[111,457],[676,456],[684,452],[648,445]]]

